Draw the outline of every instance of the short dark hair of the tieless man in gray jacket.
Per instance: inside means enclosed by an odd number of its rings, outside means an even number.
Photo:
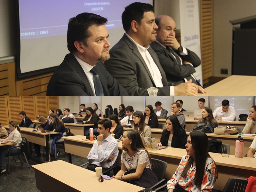
[[[122,23],[125,32],[127,33],[131,28],[133,20],[140,24],[143,19],[144,12],[154,12],[154,8],[151,4],[135,2],[125,7],[122,14]]]

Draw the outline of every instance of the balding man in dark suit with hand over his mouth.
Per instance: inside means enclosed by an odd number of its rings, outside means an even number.
[[[196,53],[179,44],[175,38],[175,21],[168,15],[159,15],[156,17],[156,24],[158,26],[156,42],[150,46],[156,52],[164,68],[167,81],[180,84],[192,79],[193,83],[201,86],[193,76],[201,60]]]

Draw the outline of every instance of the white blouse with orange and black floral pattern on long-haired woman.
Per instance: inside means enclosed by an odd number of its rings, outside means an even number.
[[[201,188],[195,185],[195,175],[196,175],[196,165],[191,167],[188,170],[186,177],[181,177],[181,173],[188,162],[188,155],[182,157],[180,164],[176,170],[176,172],[172,175],[171,180],[167,182],[167,188],[175,188],[175,186],[179,185],[185,191],[193,192],[193,191],[212,191],[214,187],[215,180],[217,179],[217,169],[216,165],[211,157],[208,157],[205,162],[205,171],[204,178],[202,181]]]

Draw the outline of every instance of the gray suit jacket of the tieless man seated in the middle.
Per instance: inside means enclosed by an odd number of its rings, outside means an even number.
[[[170,96],[169,85],[172,84],[167,82],[164,70],[151,47],[148,48],[148,52],[155,61],[162,76],[164,87],[157,87],[159,89],[157,95]],[[156,87],[139,50],[128,36],[124,34],[120,41],[110,50],[110,55],[110,59],[105,61],[105,66],[108,72],[117,79],[129,95],[148,96],[147,89],[149,87]]]

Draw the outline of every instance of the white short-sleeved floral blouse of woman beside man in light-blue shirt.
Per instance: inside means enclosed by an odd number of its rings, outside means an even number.
[[[128,171],[137,169],[137,166],[143,163],[146,163],[145,168],[151,168],[148,153],[143,149],[138,150],[132,157],[128,155],[127,151],[123,150],[121,163],[125,165]]]

